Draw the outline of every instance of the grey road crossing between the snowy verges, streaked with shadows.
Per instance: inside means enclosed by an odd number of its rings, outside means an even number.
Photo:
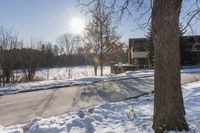
[[[182,84],[196,80],[200,73],[182,74]],[[0,96],[0,125],[26,123],[34,117],[61,115],[151,91],[153,77],[145,77]]]

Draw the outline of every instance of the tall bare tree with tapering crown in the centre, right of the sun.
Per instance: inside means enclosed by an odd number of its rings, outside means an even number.
[[[94,64],[101,66],[101,75],[103,75],[103,63],[106,55],[112,52],[120,38],[120,35],[117,34],[117,26],[113,23],[112,13],[107,10],[105,4],[105,0],[94,1],[93,7],[89,9],[92,21],[86,26],[85,32],[85,39],[93,47],[94,54],[99,61]]]

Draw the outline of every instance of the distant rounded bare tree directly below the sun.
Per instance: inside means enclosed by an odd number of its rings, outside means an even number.
[[[68,78],[72,78],[72,69],[70,57],[75,53],[77,45],[80,43],[80,37],[72,34],[61,35],[57,39],[58,45],[61,47],[61,54],[65,54],[68,58],[66,63],[66,71],[68,71]]]

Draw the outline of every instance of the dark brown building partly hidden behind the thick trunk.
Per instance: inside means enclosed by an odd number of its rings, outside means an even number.
[[[147,38],[129,39],[128,63],[137,68],[153,67],[153,42]],[[181,65],[200,64],[200,36],[180,38]]]

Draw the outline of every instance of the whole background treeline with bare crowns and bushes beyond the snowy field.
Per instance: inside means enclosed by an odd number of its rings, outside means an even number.
[[[69,34],[60,36],[55,45],[36,39],[24,42],[13,32],[0,28],[0,86],[32,81],[38,68],[94,65],[98,54],[91,52],[93,47],[86,44],[80,47],[81,43],[80,37]],[[112,53],[104,58],[105,64],[126,62],[126,55],[124,44],[116,44]],[[16,70],[22,72],[23,78],[14,74]]]

